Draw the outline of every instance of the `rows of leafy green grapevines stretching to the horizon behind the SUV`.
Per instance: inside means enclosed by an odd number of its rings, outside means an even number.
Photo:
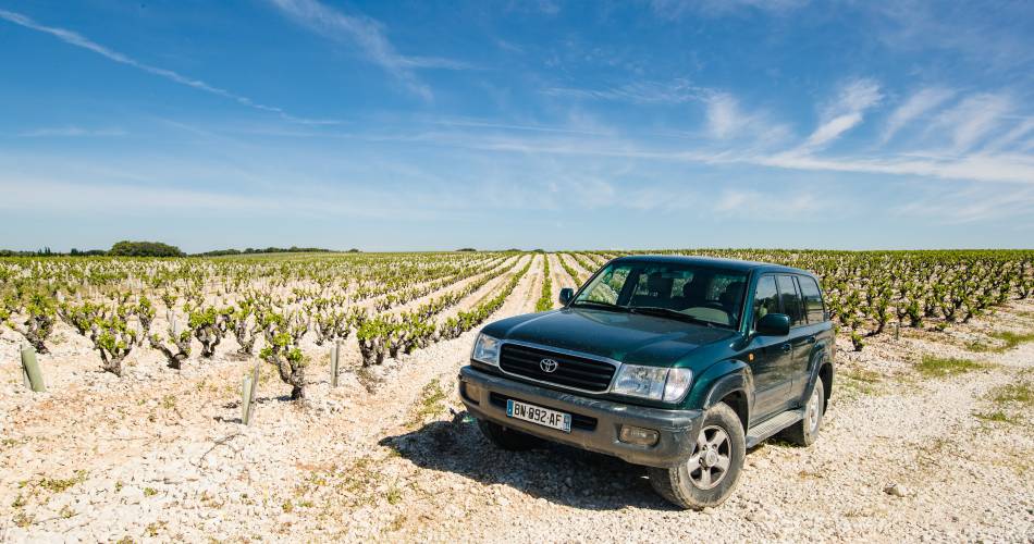
[[[815,272],[827,311],[855,350],[888,325],[969,322],[1034,296],[1032,251],[662,251],[778,262]],[[619,254],[559,254],[580,283]],[[234,338],[239,357],[273,364],[304,396],[303,347],[354,337],[361,367],[457,337],[491,316],[530,267],[518,254],[316,256],[283,259],[7,259],[0,320],[47,354],[63,323],[88,338],[99,364],[122,375],[134,351],[162,354],[172,370],[211,359]],[[525,259],[527,261],[527,259]],[[554,306],[549,260],[537,311]],[[491,296],[448,312],[505,276]],[[419,301],[416,304],[415,301]],[[261,345],[261,347],[257,347]],[[196,348],[196,349],[195,349]]]

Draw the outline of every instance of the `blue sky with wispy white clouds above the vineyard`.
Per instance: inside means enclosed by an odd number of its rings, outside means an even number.
[[[1030,2],[0,0],[0,247],[1032,247]]]

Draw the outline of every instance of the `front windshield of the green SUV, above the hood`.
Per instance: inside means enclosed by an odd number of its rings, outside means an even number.
[[[731,329],[739,324],[746,288],[743,272],[690,263],[620,262],[607,264],[571,306],[650,309],[653,316],[686,316],[687,321]]]

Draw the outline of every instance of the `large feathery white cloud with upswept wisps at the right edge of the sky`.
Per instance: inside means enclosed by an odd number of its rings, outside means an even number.
[[[773,121],[767,113],[746,109],[731,94],[697,87],[687,82],[679,82],[676,86],[637,84],[604,90],[551,89],[550,94],[640,103],[699,101],[704,104],[703,132],[711,143],[685,151],[643,138],[625,139],[619,133],[614,137],[603,134],[592,139],[512,134],[469,141],[451,135],[442,143],[522,153],[586,154],[702,164],[749,163],[814,172],[1034,183],[1034,158],[1029,154],[1034,141],[1024,139],[1034,132],[1034,118],[1017,118],[1014,104],[1007,95],[977,94],[964,97],[952,108],[944,110],[944,106],[958,96],[957,91],[944,87],[921,89],[889,113],[882,133],[875,137],[881,144],[886,144],[919,118],[931,118],[926,131],[918,139],[902,143],[904,148],[910,149],[907,153],[899,146],[897,151],[885,150],[869,157],[857,152],[829,156],[825,151],[878,111],[884,92],[881,85],[870,78],[855,78],[841,85],[836,95],[820,108],[817,125],[797,144],[793,144],[796,138],[788,125]],[[992,138],[994,134],[999,136]],[[753,146],[744,145],[751,141]],[[983,150],[973,152],[978,149],[977,146],[983,146]]]

